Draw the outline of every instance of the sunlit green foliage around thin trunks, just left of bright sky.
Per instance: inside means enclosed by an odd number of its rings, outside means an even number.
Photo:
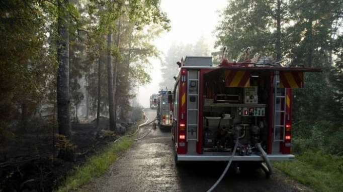
[[[152,45],[152,41],[163,31],[168,30],[168,19],[160,11],[159,1],[90,1],[87,4],[90,24],[84,28],[88,33],[87,60],[94,70],[90,70],[89,94],[97,98],[98,69],[94,63],[101,59],[106,63],[106,46],[104,37],[111,28],[114,31],[111,52],[114,59],[114,69],[117,68],[115,100],[122,113],[130,109],[129,100],[133,86],[144,85],[151,79],[148,74],[150,57],[158,57],[159,52]],[[119,40],[119,41],[118,41]],[[115,70],[114,70],[115,71]],[[102,68],[101,74],[106,74]],[[108,111],[107,79],[101,75],[101,112]],[[121,116],[123,117],[123,116]]]

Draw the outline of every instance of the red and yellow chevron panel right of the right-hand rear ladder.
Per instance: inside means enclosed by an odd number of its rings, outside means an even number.
[[[286,72],[280,71],[280,87],[281,88],[303,88],[304,73],[303,72]]]

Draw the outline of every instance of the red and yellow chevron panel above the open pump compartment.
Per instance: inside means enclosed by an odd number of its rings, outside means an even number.
[[[225,86],[250,87],[250,72],[236,70],[225,71]]]

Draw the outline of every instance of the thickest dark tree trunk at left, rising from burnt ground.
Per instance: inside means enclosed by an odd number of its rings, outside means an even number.
[[[66,11],[68,0],[57,1],[58,16],[58,76],[57,76],[57,121],[58,132],[70,137],[70,112],[69,112],[69,34],[68,14]]]

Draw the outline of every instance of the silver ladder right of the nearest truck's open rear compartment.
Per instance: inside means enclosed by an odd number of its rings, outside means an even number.
[[[280,88],[279,71],[274,74],[274,142],[285,141],[286,89]]]

